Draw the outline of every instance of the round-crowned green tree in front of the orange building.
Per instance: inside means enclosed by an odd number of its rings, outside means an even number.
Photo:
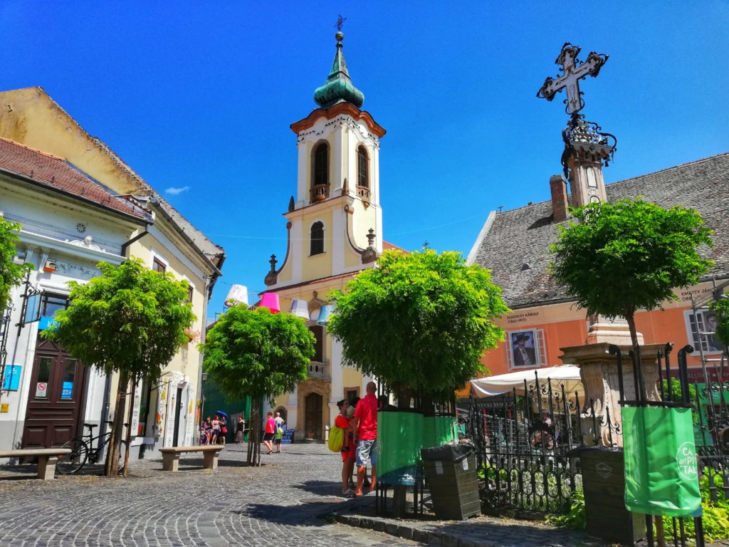
[[[588,314],[625,317],[634,345],[636,311],[677,300],[674,288],[698,283],[713,264],[698,252],[712,247],[712,232],[693,209],[663,209],[638,197],[572,214],[578,222],[560,227],[550,273]]]

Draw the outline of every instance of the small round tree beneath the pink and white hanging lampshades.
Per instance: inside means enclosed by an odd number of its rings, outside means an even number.
[[[298,317],[233,306],[200,344],[203,369],[227,397],[252,398],[248,465],[260,465],[260,406],[293,391],[307,378],[314,357],[313,333]]]

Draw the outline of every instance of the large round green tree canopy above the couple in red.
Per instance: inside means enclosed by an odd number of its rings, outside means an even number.
[[[330,298],[336,314],[327,328],[347,365],[432,396],[452,394],[485,370],[484,349],[504,339],[494,319],[509,311],[488,270],[431,249],[386,251]]]

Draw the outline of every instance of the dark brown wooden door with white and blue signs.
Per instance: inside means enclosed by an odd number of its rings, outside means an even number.
[[[53,342],[42,340],[28,393],[23,448],[60,446],[77,435],[86,391],[86,369]]]

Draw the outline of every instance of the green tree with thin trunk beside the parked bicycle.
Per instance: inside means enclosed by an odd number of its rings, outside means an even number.
[[[122,443],[128,390],[144,377],[159,379],[195,321],[188,284],[169,272],[146,268],[139,259],[119,266],[98,263],[101,276],[87,284],[69,282],[71,306],[55,316],[58,327],[44,332],[84,365],[119,374],[106,475],[115,476]],[[126,451],[125,472],[128,464]]]

